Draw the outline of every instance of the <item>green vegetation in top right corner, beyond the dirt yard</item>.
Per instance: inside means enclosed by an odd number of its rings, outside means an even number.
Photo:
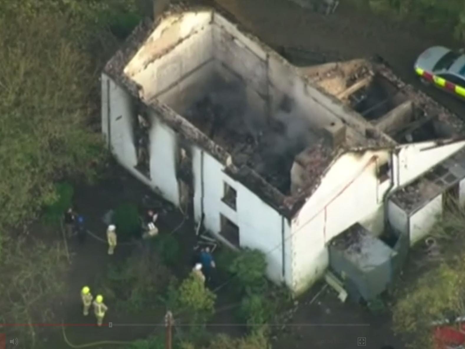
[[[462,0],[356,0],[373,11],[399,19],[416,19],[426,26],[448,27],[451,35],[465,40],[465,3]]]

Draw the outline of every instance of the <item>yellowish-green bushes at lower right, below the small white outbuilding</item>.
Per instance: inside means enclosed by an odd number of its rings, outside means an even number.
[[[465,209],[452,205],[432,229],[440,255],[415,255],[417,262],[423,260],[418,267],[412,260],[407,263],[407,277],[396,293],[393,322],[412,348],[433,348],[432,322],[465,314],[464,226]]]

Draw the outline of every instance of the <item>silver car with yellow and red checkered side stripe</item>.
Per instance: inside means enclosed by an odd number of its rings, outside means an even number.
[[[415,62],[415,72],[423,83],[434,85],[465,99],[465,54],[447,47],[425,50]]]

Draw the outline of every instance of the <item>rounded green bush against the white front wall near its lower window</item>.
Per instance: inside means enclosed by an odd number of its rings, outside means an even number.
[[[244,249],[230,264],[229,271],[237,275],[239,292],[252,294],[263,293],[266,290],[266,260],[263,252]]]

